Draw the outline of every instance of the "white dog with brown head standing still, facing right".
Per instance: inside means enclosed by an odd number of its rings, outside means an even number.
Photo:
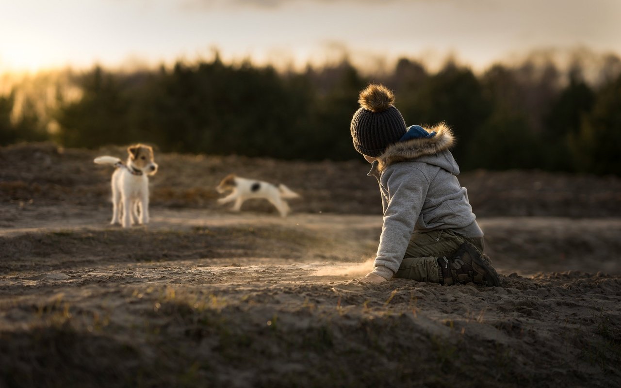
[[[114,156],[99,156],[94,162],[112,165],[112,225],[120,223],[129,228],[132,223],[149,222],[149,179],[147,175],[157,172],[153,161],[153,148],[148,145],[132,145],[127,148],[129,157],[123,163]]]

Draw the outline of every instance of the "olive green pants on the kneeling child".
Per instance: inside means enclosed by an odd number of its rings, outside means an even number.
[[[399,271],[393,277],[439,283],[438,258],[449,258],[466,241],[483,253],[483,237],[463,237],[452,230],[414,233]]]

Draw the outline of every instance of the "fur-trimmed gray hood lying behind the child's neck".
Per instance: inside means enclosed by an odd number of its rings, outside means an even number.
[[[388,166],[402,161],[421,161],[446,169],[451,174],[459,174],[459,167],[448,150],[453,147],[455,137],[445,123],[435,125],[428,132],[435,131],[430,138],[414,138],[389,145],[386,151],[378,156],[378,169],[384,171]],[[446,151],[446,152],[445,152]]]

